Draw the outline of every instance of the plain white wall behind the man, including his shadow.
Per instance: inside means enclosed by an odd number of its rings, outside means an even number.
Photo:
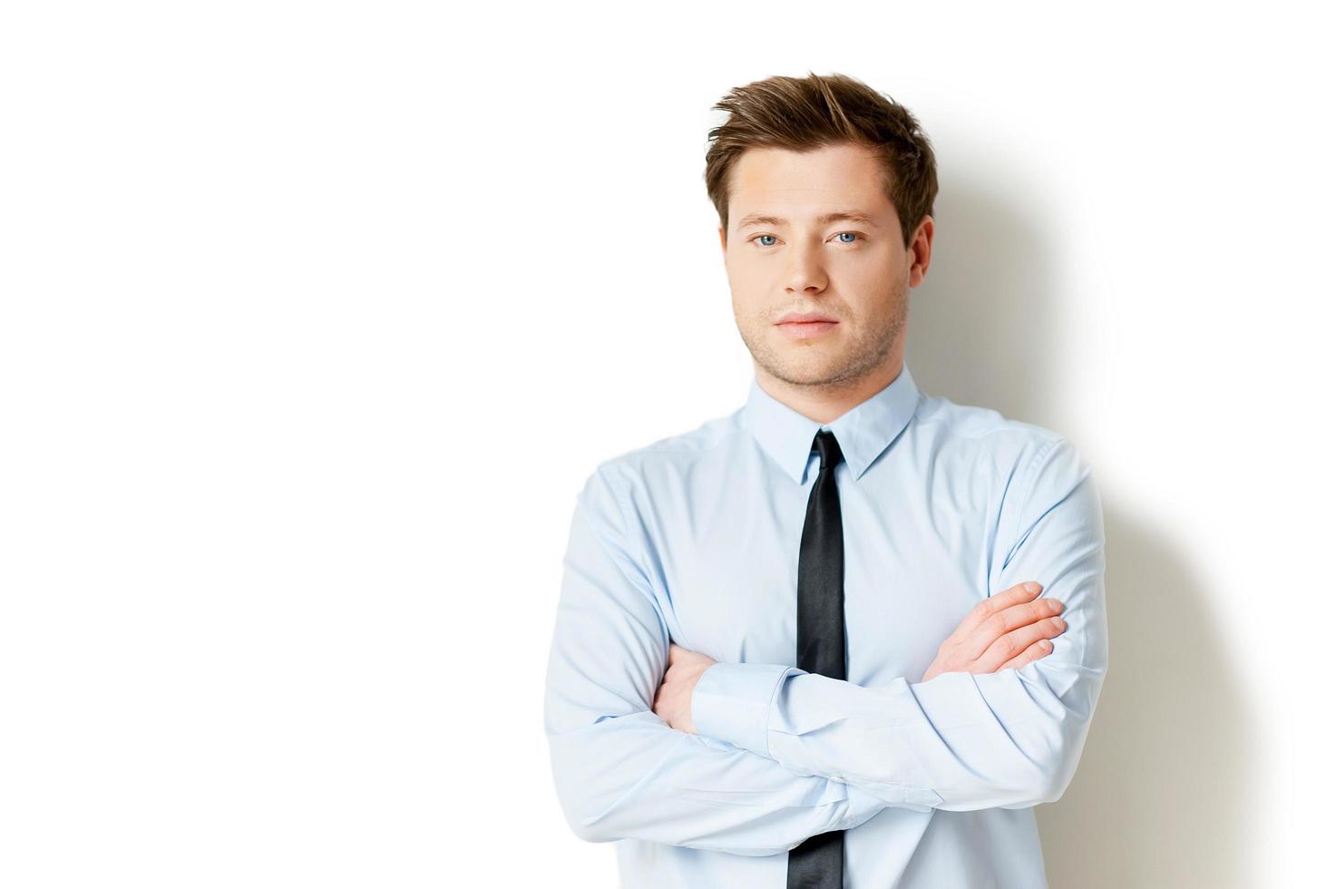
[[[1316,880],[1329,29],[1226,5],[7,4],[0,884],[616,884],[542,735],[574,493],[745,397],[709,106],[808,70],[937,147],[921,386],[1100,480],[1053,885]]]

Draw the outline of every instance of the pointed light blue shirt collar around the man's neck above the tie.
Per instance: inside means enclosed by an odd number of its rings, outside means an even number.
[[[812,440],[819,429],[835,433],[844,463],[855,479],[863,476],[872,461],[908,425],[918,408],[919,389],[907,364],[900,374],[876,394],[850,408],[830,422],[816,422],[798,413],[760,388],[752,377],[743,408],[743,424],[756,436],[780,468],[798,484],[812,453]]]

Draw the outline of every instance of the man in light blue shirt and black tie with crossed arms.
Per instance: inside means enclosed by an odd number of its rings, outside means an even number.
[[[635,889],[1045,886],[1033,807],[1108,667],[1090,469],[904,365],[937,194],[907,110],[839,75],[716,107],[755,378],[577,499],[545,702],[565,815]]]

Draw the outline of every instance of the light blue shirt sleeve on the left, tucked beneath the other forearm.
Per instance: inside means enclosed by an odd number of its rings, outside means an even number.
[[[770,856],[884,809],[875,794],[794,774],[653,713],[669,639],[625,504],[604,468],[577,497],[548,659],[545,734],[576,836]]]

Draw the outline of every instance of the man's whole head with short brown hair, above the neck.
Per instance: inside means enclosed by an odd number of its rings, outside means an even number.
[[[875,392],[899,370],[927,273],[937,167],[918,122],[843,75],[770,78],[715,108],[705,187],[758,373]],[[843,214],[843,217],[842,217]],[[834,324],[780,324],[814,313]]]

